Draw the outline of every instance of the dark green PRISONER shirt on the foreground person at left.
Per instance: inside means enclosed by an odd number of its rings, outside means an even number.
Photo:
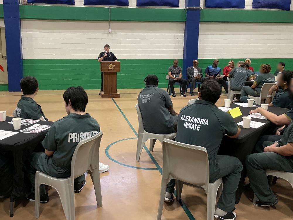
[[[56,166],[70,169],[72,155],[78,143],[99,132],[98,122],[88,113],[70,113],[51,125],[42,145],[45,149],[54,151],[52,160]]]

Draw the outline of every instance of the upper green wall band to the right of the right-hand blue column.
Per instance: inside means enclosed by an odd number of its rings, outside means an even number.
[[[202,9],[200,22],[293,23],[293,11]]]

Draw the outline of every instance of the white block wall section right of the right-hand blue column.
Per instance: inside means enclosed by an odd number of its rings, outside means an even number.
[[[200,23],[198,58],[292,58],[293,24]]]

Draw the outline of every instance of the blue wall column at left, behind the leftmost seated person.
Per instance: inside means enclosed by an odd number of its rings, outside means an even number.
[[[21,24],[19,0],[4,0],[4,23],[6,38],[8,91],[21,91],[19,82],[23,78]]]

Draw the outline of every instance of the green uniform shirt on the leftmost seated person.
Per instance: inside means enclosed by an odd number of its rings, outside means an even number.
[[[16,111],[17,116],[22,119],[39,120],[42,116],[46,119],[41,106],[32,98],[23,95],[17,103]],[[48,121],[48,119],[46,119],[46,121]]]

